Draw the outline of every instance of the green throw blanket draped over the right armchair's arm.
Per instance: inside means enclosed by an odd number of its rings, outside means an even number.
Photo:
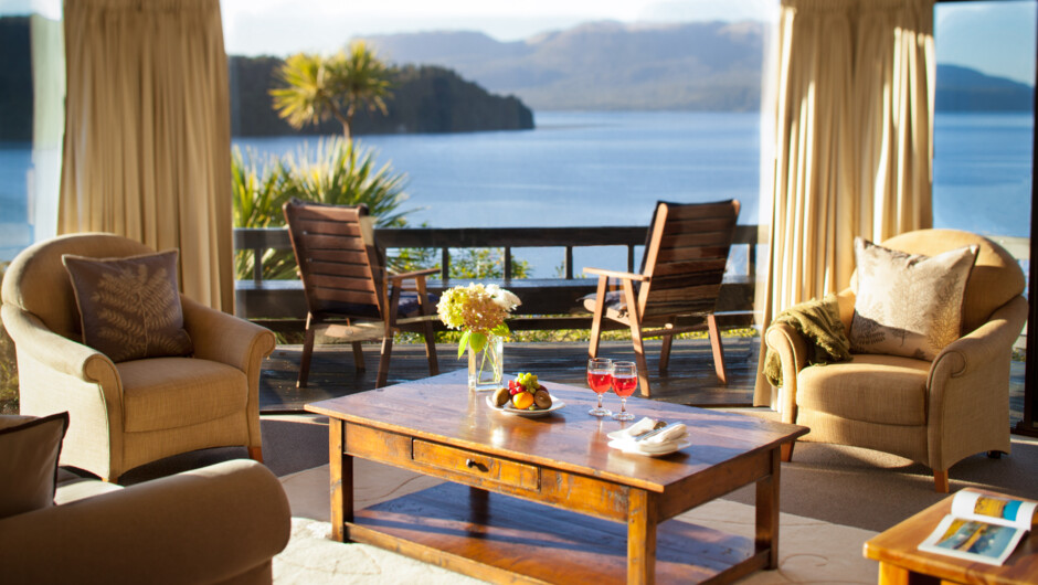
[[[773,323],[786,323],[807,341],[807,363],[812,365],[850,360],[850,340],[839,320],[836,295],[794,305],[778,313]],[[767,348],[764,354],[764,375],[774,386],[782,385],[782,360],[778,352]]]

